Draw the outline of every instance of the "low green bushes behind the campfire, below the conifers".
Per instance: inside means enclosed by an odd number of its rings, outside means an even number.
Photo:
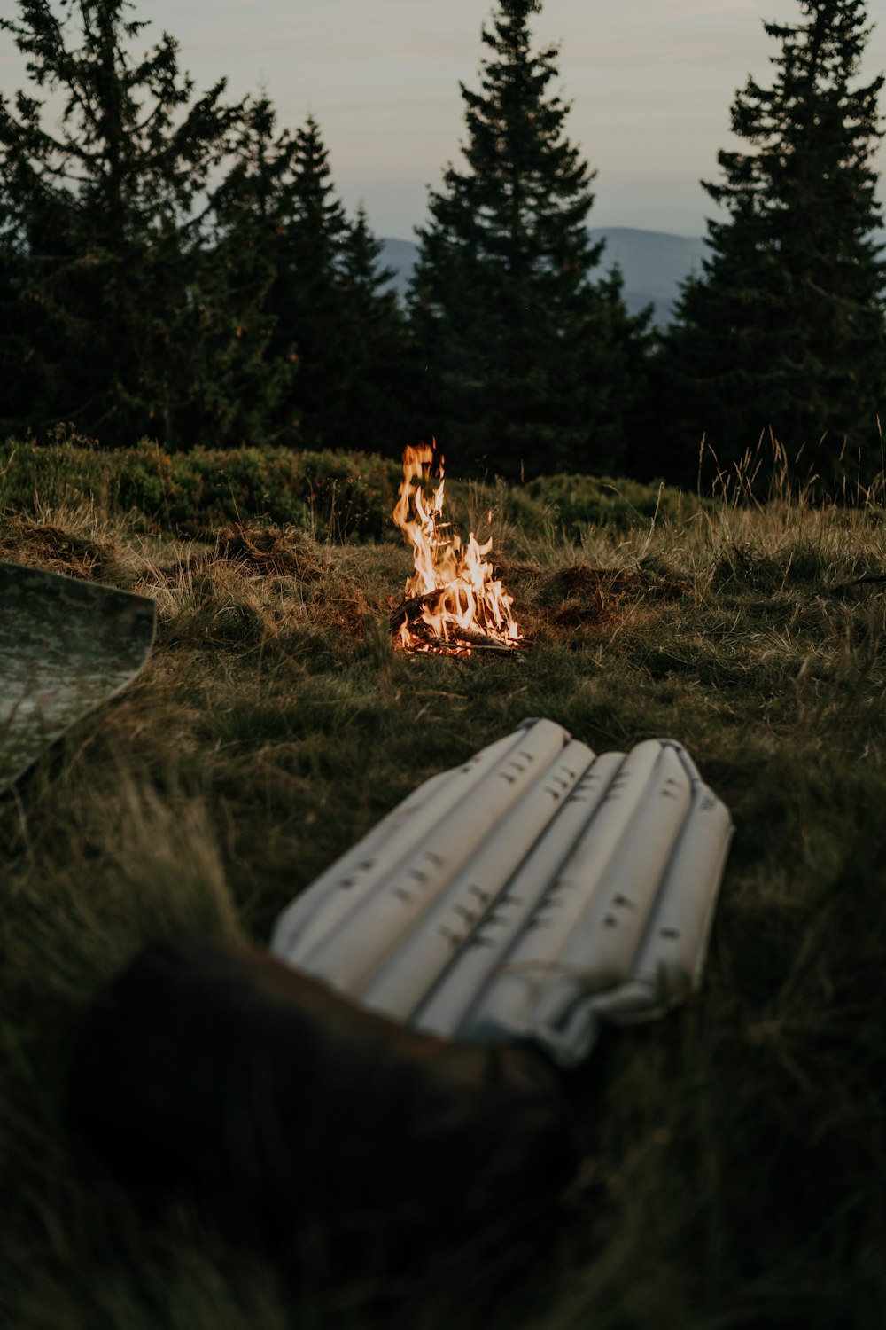
[[[88,500],[179,535],[264,520],[319,537],[379,540],[392,531],[401,475],[397,459],[367,452],[268,447],[169,454],[147,439],[116,451],[77,435],[45,444],[8,440],[0,444],[0,511],[40,516]],[[600,476],[558,475],[526,485],[448,477],[446,485],[460,528],[472,513],[480,521],[481,509],[494,509],[530,537],[575,540],[590,527],[630,531],[656,516],[680,521],[704,503],[664,485]]]

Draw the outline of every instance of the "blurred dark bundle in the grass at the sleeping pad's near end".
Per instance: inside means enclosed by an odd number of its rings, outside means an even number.
[[[275,1229],[306,1202],[433,1225],[575,1165],[539,1055],[433,1039],[199,942],[150,946],[94,1003],[69,1117],[125,1181],[214,1188]]]

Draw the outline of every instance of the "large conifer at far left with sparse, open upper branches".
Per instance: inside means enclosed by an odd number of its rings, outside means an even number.
[[[133,56],[145,24],[130,8],[21,0],[0,20],[35,90],[61,98],[57,129],[39,96],[0,102],[0,302],[13,317],[0,418],[174,446],[193,442],[185,423],[224,382],[203,229],[242,106],[223,102],[223,81],[194,97],[167,35]],[[210,416],[224,410],[215,400]]]

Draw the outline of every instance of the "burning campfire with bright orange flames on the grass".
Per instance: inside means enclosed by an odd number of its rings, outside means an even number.
[[[422,480],[432,475],[433,448],[421,444],[402,455],[402,483],[392,513],[412,547],[413,573],[405,600],[391,616],[396,645],[406,652],[470,656],[472,650],[510,652],[521,645],[511,613],[513,597],[494,576],[482,544],[472,531],[465,545],[444,520],[444,467],[426,497]]]

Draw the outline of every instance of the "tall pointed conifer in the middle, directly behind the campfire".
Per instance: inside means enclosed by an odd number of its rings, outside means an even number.
[[[618,278],[590,278],[594,177],[550,90],[557,48],[531,49],[539,9],[499,0],[482,29],[481,90],[461,85],[468,169],[430,193],[410,289],[428,432],[460,466],[510,476],[620,463],[648,323],[627,315]]]

